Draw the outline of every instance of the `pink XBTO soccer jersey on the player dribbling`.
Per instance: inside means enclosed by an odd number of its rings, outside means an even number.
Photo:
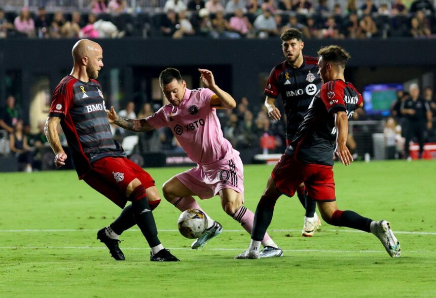
[[[210,106],[214,93],[207,88],[186,89],[179,106],[167,104],[147,118],[154,128],[170,127],[188,157],[201,165],[239,155],[224,138],[216,108]]]

